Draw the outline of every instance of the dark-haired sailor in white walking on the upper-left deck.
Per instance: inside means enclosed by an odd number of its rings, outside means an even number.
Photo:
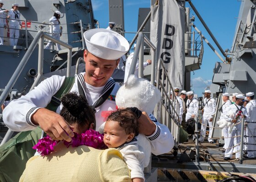
[[[60,39],[61,33],[62,33],[62,29],[60,26],[60,15],[61,12],[60,11],[55,11],[55,13],[53,14],[53,17],[50,18],[50,23],[53,23],[53,30],[52,30],[52,26],[51,26],[51,30],[50,32],[53,33],[53,38],[55,39]],[[49,41],[48,44],[45,46],[45,49],[51,49],[53,43],[52,41]],[[61,50],[60,45],[56,43],[56,47],[57,47],[57,51]]]

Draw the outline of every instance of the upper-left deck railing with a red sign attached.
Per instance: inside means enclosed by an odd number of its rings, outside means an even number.
[[[5,20],[17,20],[17,19],[11,19],[11,18],[2,18],[0,17],[0,19],[5,19]],[[13,39],[18,39],[18,40],[23,40],[25,41],[26,43],[26,48],[28,48],[30,42],[33,40],[33,38],[29,35],[29,33],[32,33],[32,34],[36,34],[38,32],[38,30],[29,30],[28,28],[31,28],[31,27],[38,27],[38,29],[40,29],[40,31],[43,31],[45,34],[48,34],[48,35],[51,35],[53,36],[53,33],[51,30],[53,30],[53,24],[52,23],[46,23],[46,22],[37,22],[37,21],[30,21],[30,20],[18,20],[21,22],[21,29],[16,29],[16,28],[10,28],[9,27],[9,24],[8,26],[6,27],[7,29],[7,35],[8,35],[8,31],[9,30],[21,30],[21,33],[20,33],[20,37],[19,38],[13,38]],[[75,43],[75,42],[81,42],[81,45],[82,45],[82,48],[85,49],[85,43],[84,43],[84,37],[83,37],[83,33],[85,30],[89,30],[91,29],[91,25],[90,24],[84,24],[82,22],[82,20],[80,20],[79,22],[72,22],[72,23],[66,23],[66,24],[59,24],[60,26],[67,26],[67,25],[75,25],[77,24],[79,27],[80,27],[80,30],[79,31],[74,31],[74,32],[62,32],[62,34],[81,34],[79,37],[81,37],[80,40],[74,40],[74,41],[70,41],[70,42],[67,42],[67,44],[70,44],[70,43]],[[86,27],[86,28],[84,28]],[[0,28],[4,28],[2,26],[0,26]],[[24,30],[23,30],[24,28]],[[23,34],[22,31],[25,31],[25,33]],[[10,37],[8,36],[4,36],[3,38],[5,39],[10,39]],[[65,42],[64,40],[62,40],[63,42]],[[44,40],[44,43],[48,43],[48,41],[45,41]],[[53,44],[53,48],[54,50],[54,44]]]

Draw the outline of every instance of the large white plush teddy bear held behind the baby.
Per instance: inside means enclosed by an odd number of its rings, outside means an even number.
[[[130,75],[126,83],[117,91],[116,104],[118,108],[137,107],[140,111],[151,114],[160,99],[160,91],[148,80]],[[100,126],[99,132],[103,131],[104,124]],[[144,163],[141,165],[147,167],[151,157],[149,139],[143,134],[139,134],[136,138],[139,150],[145,155]]]

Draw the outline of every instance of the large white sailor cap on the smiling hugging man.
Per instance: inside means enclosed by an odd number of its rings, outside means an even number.
[[[112,30],[87,30],[84,38],[87,50],[102,59],[117,60],[129,50],[128,41]]]

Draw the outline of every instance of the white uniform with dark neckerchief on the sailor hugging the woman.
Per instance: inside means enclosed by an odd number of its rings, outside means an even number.
[[[80,73],[84,76],[85,73]],[[80,75],[79,74],[79,75]],[[80,81],[80,76],[76,75],[75,83],[70,90],[78,93],[77,83]],[[27,95],[21,96],[17,100],[11,101],[11,103],[3,111],[3,120],[12,131],[28,131],[33,130],[37,126],[31,121],[31,116],[39,108],[44,108],[51,101],[52,96],[59,90],[64,82],[64,76],[51,76],[50,78],[42,81],[32,91],[28,92]],[[112,78],[110,78],[112,80]],[[86,84],[81,84],[84,92],[86,93],[87,101],[89,105],[94,103],[100,96],[103,87],[94,87]],[[115,98],[119,84],[115,83],[115,87],[111,92],[112,97],[109,97],[101,106],[96,107],[96,131],[99,126],[106,120],[107,111],[116,110]],[[60,108],[57,112],[60,111]],[[15,113],[15,114],[14,114]],[[171,132],[167,126],[160,124],[153,115],[149,115],[149,118],[154,121],[156,127],[155,132],[146,136],[151,144],[151,152],[155,155],[160,155],[166,152],[170,152],[174,142]]]

